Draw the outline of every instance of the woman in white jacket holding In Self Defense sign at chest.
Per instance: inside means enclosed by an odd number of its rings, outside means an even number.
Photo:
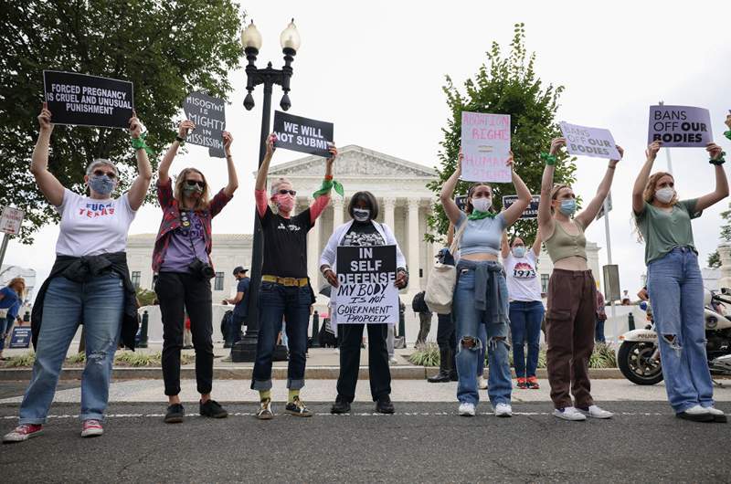
[[[398,247],[391,228],[376,222],[378,202],[370,192],[358,192],[350,199],[348,213],[350,222],[337,226],[327,241],[320,258],[320,271],[334,288],[337,276],[334,273],[335,255],[338,246],[396,246],[397,278],[396,287],[404,289],[408,283],[406,258]],[[360,368],[360,344],[363,338],[363,324],[344,324],[340,346],[340,375],[337,379],[337,398],[331,412],[345,414],[350,412],[350,404],[355,399],[355,384]],[[391,403],[391,372],[388,368],[387,352],[388,325],[368,324],[368,370],[370,374],[371,395],[376,402],[376,412],[393,414]]]

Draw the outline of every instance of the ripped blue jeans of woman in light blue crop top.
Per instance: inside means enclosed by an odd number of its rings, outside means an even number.
[[[488,321],[488,311],[477,310],[474,305],[474,268],[458,267],[459,279],[454,291],[452,311],[457,333],[457,399],[461,403],[477,405],[480,396],[477,392],[477,369],[480,351],[487,346],[487,359],[490,364],[487,394],[493,405],[510,404],[512,382],[508,358],[508,325]],[[503,300],[508,300],[508,289],[504,277],[499,278]],[[507,308],[506,308],[507,310]],[[471,339],[474,344],[465,346],[464,340]]]

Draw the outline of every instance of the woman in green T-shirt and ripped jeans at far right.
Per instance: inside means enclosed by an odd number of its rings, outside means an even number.
[[[721,147],[706,150],[714,165],[715,191],[678,200],[672,174],[650,174],[660,142],[647,148],[632,191],[632,210],[645,242],[647,290],[657,326],[662,376],[675,415],[696,422],[726,422],[714,408],[714,390],[705,353],[704,289],[691,220],[728,196]]]

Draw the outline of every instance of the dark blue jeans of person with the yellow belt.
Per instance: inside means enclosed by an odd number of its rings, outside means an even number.
[[[310,305],[313,302],[309,286],[282,286],[262,282],[259,291],[259,341],[257,361],[251,380],[252,390],[271,388],[271,355],[281,331],[282,317],[286,319],[290,362],[287,366],[287,388],[299,390],[304,386],[304,365],[307,352],[307,328],[310,324]]]

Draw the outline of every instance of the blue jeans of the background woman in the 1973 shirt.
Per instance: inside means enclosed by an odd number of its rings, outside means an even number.
[[[514,300],[510,303],[510,331],[513,333],[513,366],[515,376],[535,376],[541,342],[541,321],[544,313],[540,300]],[[525,359],[524,344],[528,343]],[[526,368],[527,367],[527,368]]]

